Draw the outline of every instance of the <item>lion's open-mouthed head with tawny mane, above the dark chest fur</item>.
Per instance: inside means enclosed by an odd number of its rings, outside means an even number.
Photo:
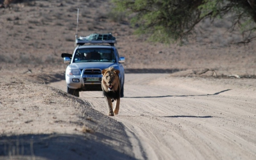
[[[119,70],[114,68],[107,68],[101,71],[103,74],[102,83],[105,91],[117,91],[118,85],[120,85],[118,77],[119,72]]]

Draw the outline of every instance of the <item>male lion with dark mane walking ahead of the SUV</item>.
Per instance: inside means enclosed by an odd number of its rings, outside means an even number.
[[[120,104],[120,79],[118,74],[120,71],[113,67],[103,69],[101,88],[103,96],[106,99],[108,107],[108,116],[114,116],[118,114]],[[116,101],[115,107],[113,108],[112,102]]]

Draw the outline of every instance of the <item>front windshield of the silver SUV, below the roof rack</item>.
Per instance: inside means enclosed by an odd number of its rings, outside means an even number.
[[[77,49],[73,62],[116,62],[112,49],[81,48]]]

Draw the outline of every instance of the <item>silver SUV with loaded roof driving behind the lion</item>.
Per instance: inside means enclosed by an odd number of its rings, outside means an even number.
[[[106,36],[107,35],[107,36]],[[114,67],[120,71],[120,96],[124,97],[124,57],[119,57],[114,43],[115,37],[110,34],[93,34],[89,37],[76,39],[73,54],[62,53],[61,57],[66,63],[67,92],[79,97],[80,91],[102,91],[101,70]],[[107,38],[106,38],[107,37]],[[87,45],[84,45],[87,44]],[[106,45],[108,44],[108,45]]]

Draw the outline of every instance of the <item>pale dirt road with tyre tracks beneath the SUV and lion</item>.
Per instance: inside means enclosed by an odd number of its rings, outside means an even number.
[[[254,79],[126,74],[113,118],[130,137],[137,159],[255,159]],[[65,90],[65,81],[52,83]],[[106,114],[101,92],[80,98]]]

